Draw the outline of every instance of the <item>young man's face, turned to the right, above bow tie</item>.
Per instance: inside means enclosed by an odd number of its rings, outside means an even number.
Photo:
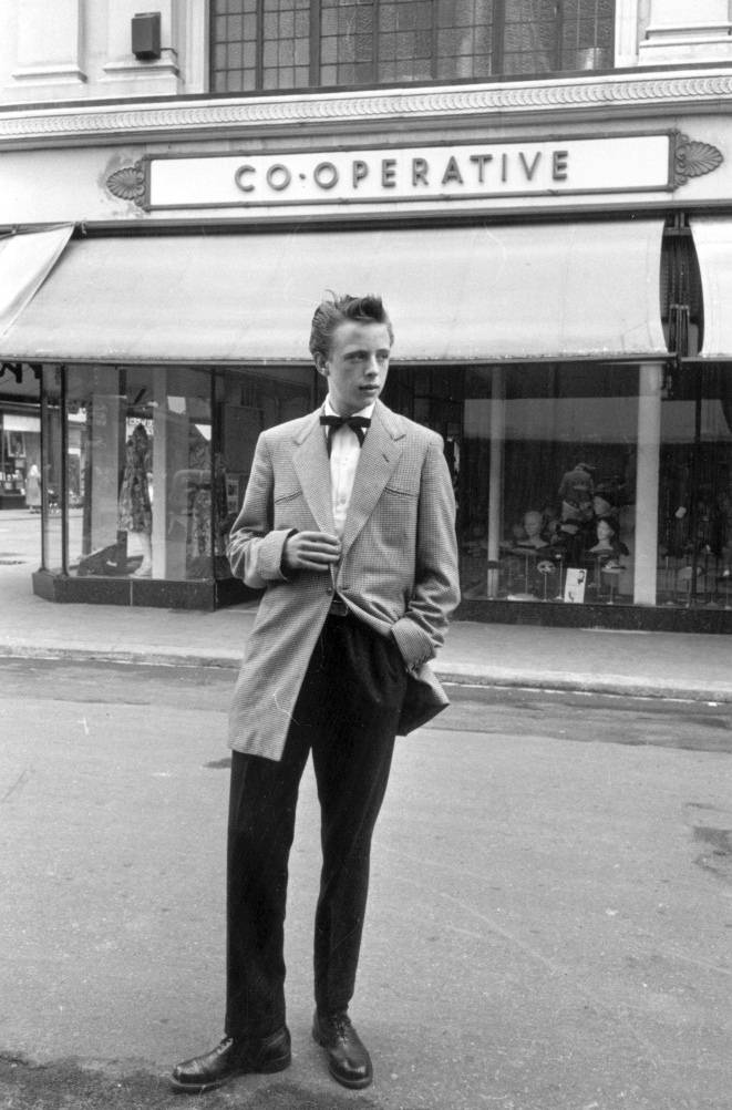
[[[384,389],[389,369],[386,324],[345,320],[333,333],[331,355],[318,369],[328,380],[331,404],[339,416],[365,408]]]

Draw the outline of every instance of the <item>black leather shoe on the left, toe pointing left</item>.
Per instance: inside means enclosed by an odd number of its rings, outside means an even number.
[[[236,1076],[250,1072],[283,1071],[291,1061],[289,1031],[286,1026],[258,1041],[238,1041],[224,1037],[211,1052],[184,1060],[173,1069],[171,1087],[186,1094],[202,1094],[223,1087]]]

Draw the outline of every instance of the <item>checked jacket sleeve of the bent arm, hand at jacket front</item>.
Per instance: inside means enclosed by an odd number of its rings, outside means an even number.
[[[226,555],[235,578],[252,589],[285,582],[282,554],[292,528],[274,529],[274,467],[265,437],[257,440],[244,504],[232,525]]]

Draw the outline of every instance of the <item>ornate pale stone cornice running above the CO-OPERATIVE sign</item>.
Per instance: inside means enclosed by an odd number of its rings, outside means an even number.
[[[502,120],[531,114],[557,119],[610,118],[639,109],[703,111],[732,107],[732,69],[628,71],[552,81],[343,91],[301,95],[185,99],[109,104],[12,107],[0,111],[0,148],[78,145],[182,138],[186,134],[246,135],[266,129],[337,128],[395,122]]]

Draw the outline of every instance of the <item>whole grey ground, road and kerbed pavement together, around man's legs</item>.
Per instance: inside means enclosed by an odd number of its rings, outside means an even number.
[[[254,608],[43,602],[38,531],[0,514],[0,1107],[174,1110],[172,1064],[221,1029],[224,687]],[[455,622],[438,669],[732,703],[731,643]],[[166,666],[39,675],[23,657]],[[365,1092],[336,1088],[309,1033],[319,825],[306,769],[285,949],[293,1067],[191,1106],[730,1106],[729,709],[561,699],[576,700],[552,725],[535,698],[456,697],[469,727],[446,714],[444,730],[397,746],[359,965]],[[675,745],[671,717],[702,743]]]

